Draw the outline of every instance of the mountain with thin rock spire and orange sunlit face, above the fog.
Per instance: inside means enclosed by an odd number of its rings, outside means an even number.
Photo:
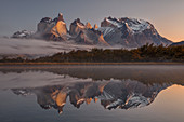
[[[63,19],[63,14],[52,19],[44,17],[38,24],[36,37],[41,37],[49,40],[66,40],[67,28]]]

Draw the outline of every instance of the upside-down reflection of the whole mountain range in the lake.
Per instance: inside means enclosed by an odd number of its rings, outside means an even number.
[[[76,82],[34,89],[12,89],[12,91],[17,95],[36,94],[37,103],[43,109],[55,108],[61,113],[67,97],[77,108],[83,103],[90,104],[91,100],[100,100],[101,105],[109,110],[145,107],[154,101],[161,90],[170,85],[169,83],[147,85],[139,81],[122,80]]]

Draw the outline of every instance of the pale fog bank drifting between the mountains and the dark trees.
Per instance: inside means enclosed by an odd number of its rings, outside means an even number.
[[[120,49],[122,46],[103,46],[103,45],[87,45],[76,44],[70,41],[45,41],[37,39],[13,39],[0,38],[0,58],[9,57],[25,57],[38,58],[40,56],[53,55],[58,52],[70,52],[73,50],[91,50],[91,49]]]

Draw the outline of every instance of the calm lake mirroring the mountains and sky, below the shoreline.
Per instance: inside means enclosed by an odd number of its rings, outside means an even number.
[[[184,122],[184,65],[0,66],[1,122]]]

